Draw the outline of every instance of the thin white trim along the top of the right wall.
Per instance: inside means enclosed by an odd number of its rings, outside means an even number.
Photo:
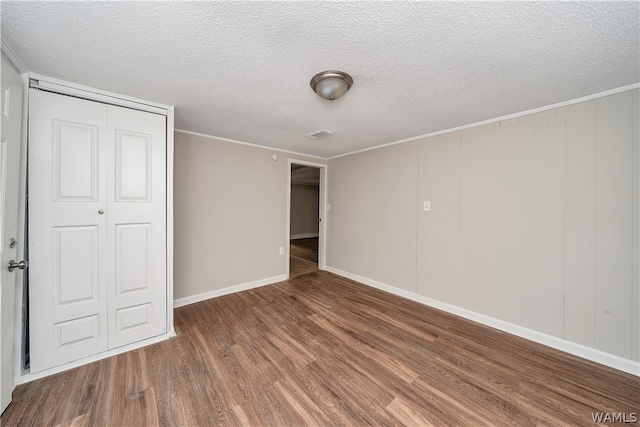
[[[482,126],[482,125],[487,125],[487,124],[490,124],[490,123],[496,123],[496,122],[500,122],[502,120],[509,120],[509,119],[515,119],[516,117],[528,116],[529,114],[540,113],[542,111],[553,110],[554,108],[561,108],[561,107],[566,107],[568,105],[578,104],[580,102],[591,101],[593,99],[602,98],[602,97],[609,96],[609,95],[615,95],[616,93],[626,92],[628,90],[633,90],[633,89],[638,89],[639,87],[640,87],[640,83],[633,83],[633,84],[630,84],[630,85],[627,85],[627,86],[622,86],[622,87],[619,87],[619,88],[606,90],[604,92],[599,92],[599,93],[596,93],[596,94],[593,94],[593,95],[587,95],[587,96],[583,96],[581,98],[571,99],[569,101],[558,102],[557,104],[552,104],[552,105],[547,105],[547,106],[544,106],[544,107],[534,108],[534,109],[531,109],[531,110],[521,111],[519,113],[508,114],[506,116],[500,116],[500,117],[496,117],[496,118],[493,118],[493,119],[484,120],[484,121],[481,121],[481,122],[471,123],[471,124],[468,124],[468,125],[462,125],[462,126],[457,126],[457,127],[454,127],[454,128],[449,128],[449,129],[439,130],[439,131],[436,131],[436,132],[426,133],[424,135],[419,135],[419,136],[414,136],[414,137],[411,137],[411,138],[401,139],[400,141],[394,141],[394,142],[388,142],[386,144],[376,145],[375,147],[363,148],[361,150],[350,151],[350,152],[344,153],[344,154],[338,154],[337,156],[329,157],[327,160],[333,160],[333,159],[337,159],[337,158],[340,158],[340,157],[351,156],[352,154],[364,153],[366,151],[377,150],[378,148],[390,147],[390,146],[393,146],[393,145],[403,144],[405,142],[411,142],[411,141],[416,141],[416,140],[422,139],[422,138],[429,138],[431,136],[442,135],[442,134],[450,133],[450,132],[456,132],[456,131],[459,131],[459,130],[469,129],[469,128],[473,128],[473,127],[476,127],[476,126]]]

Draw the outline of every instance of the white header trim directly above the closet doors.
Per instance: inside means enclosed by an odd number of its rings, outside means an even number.
[[[142,99],[134,98],[132,96],[109,92],[102,89],[96,89],[89,86],[83,86],[35,73],[29,73],[29,79],[38,82],[37,84],[35,84],[35,82],[33,84],[29,82],[29,86],[36,89],[46,90],[63,95],[77,96],[82,99],[98,101],[105,104],[118,105],[121,107],[133,108],[136,110],[161,114],[163,116],[169,114],[169,108],[164,104],[145,101]]]

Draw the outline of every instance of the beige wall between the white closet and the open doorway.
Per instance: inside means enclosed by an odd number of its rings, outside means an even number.
[[[287,158],[175,133],[176,299],[286,274]]]

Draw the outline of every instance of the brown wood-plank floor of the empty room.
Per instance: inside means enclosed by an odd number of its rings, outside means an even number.
[[[178,308],[176,328],[19,386],[2,425],[592,426],[640,412],[638,377],[324,271]]]

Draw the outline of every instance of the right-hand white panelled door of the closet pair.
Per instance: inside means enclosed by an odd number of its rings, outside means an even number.
[[[109,347],[166,331],[166,117],[107,107]]]

